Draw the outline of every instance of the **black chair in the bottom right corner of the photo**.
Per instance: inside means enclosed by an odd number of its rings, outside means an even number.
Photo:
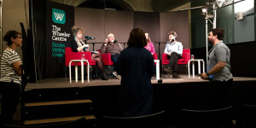
[[[243,105],[236,119],[236,128],[256,128],[256,105]]]

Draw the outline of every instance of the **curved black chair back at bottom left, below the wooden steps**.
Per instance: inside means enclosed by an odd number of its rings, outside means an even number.
[[[54,123],[47,125],[3,125],[3,128],[92,128],[94,125],[90,124],[85,118],[75,119],[62,123]]]

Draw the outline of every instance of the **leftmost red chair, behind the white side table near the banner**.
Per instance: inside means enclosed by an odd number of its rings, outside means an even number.
[[[85,54],[85,59],[89,61],[90,66],[95,66],[96,61],[91,59],[91,52],[86,51],[86,52],[73,52],[73,49],[70,47],[65,48],[65,66],[69,67],[69,61],[70,60],[81,60],[81,55]],[[86,66],[87,63],[84,62],[84,65]],[[75,63],[71,63],[71,66],[75,66]],[[78,62],[78,66],[81,66],[81,62]],[[66,67],[65,67],[65,78],[67,79],[67,74],[66,74]]]

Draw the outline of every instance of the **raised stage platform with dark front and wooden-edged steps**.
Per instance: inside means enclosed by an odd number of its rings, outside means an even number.
[[[178,108],[204,109],[208,102],[210,84],[198,77],[172,79],[172,75],[160,77],[162,83],[152,78],[154,88],[153,111],[166,110],[167,116]],[[42,122],[44,119],[58,120],[63,117],[90,115],[96,119],[102,115],[119,115],[118,90],[120,79],[90,79],[88,83],[69,83],[69,79],[42,79],[37,83],[28,83],[21,98],[21,110],[16,115],[19,122]],[[234,77],[230,88],[229,101],[240,109],[244,103],[256,103],[256,78]],[[88,102],[90,101],[90,102]],[[65,103],[66,102],[66,103]],[[49,103],[49,105],[45,105]],[[60,104],[58,104],[60,103]],[[28,106],[32,104],[33,106]],[[47,110],[47,111],[45,111]],[[22,114],[24,113],[24,114]],[[237,111],[234,112],[236,118]],[[27,123],[28,124],[28,123]]]

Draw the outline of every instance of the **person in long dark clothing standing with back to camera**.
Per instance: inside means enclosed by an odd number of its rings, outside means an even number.
[[[125,117],[147,115],[152,109],[154,59],[144,48],[147,39],[142,29],[132,29],[127,44],[115,65],[116,72],[122,76],[119,109]]]

